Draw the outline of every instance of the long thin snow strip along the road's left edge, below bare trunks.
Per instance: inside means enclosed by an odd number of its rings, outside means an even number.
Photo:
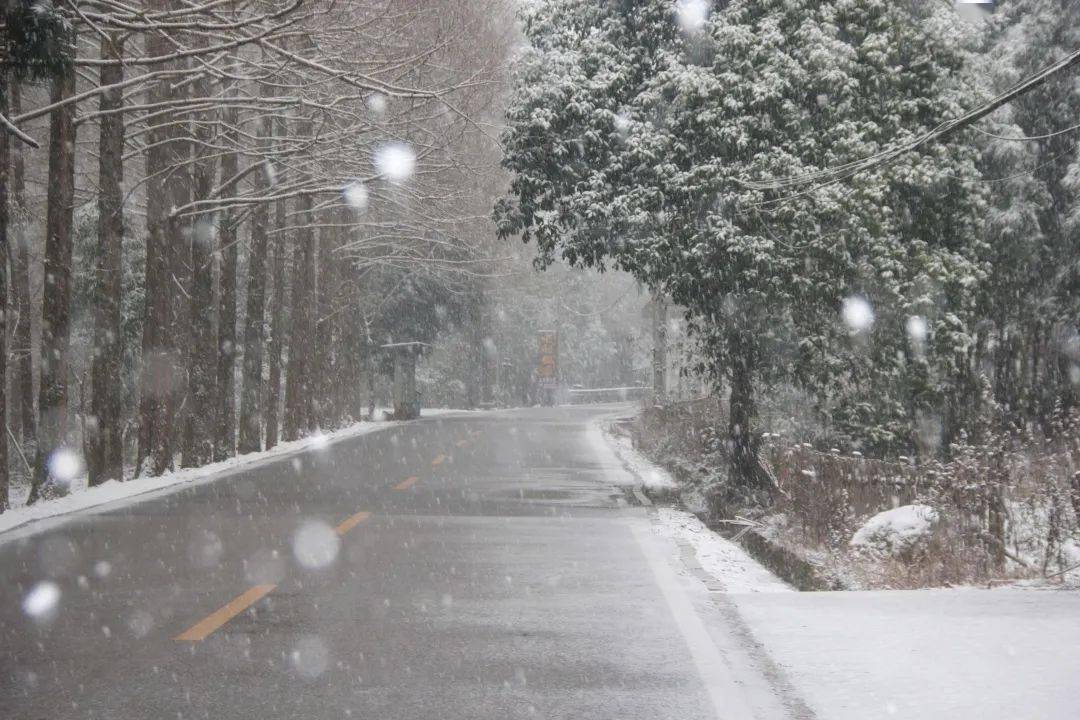
[[[422,417],[440,417],[459,412],[464,412],[464,410],[431,408],[424,409]],[[271,450],[249,452],[229,460],[222,460],[221,462],[203,465],[202,467],[177,470],[158,477],[138,477],[123,483],[110,480],[95,488],[86,487],[85,476],[77,477],[69,486],[70,493],[63,498],[42,501],[28,507],[16,506],[0,514],[0,533],[14,530],[36,520],[56,517],[58,515],[68,515],[124,500],[136,498],[145,500],[146,498],[141,495],[147,495],[148,493],[154,493],[154,497],[158,497],[163,494],[163,492],[172,492],[185,487],[211,483],[227,477],[238,470],[248,470],[286,456],[305,450],[324,448],[338,440],[367,435],[400,424],[402,423],[393,421],[357,422],[330,433],[315,433],[298,440],[281,443]],[[2,540],[3,538],[0,538],[0,541]]]

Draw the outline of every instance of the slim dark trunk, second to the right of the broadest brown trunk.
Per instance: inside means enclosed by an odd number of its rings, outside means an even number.
[[[228,110],[226,124],[234,127],[237,111]],[[232,137],[230,131],[230,137]],[[222,184],[240,169],[235,152],[221,157]],[[218,229],[218,323],[217,323],[217,430],[214,459],[227,460],[237,454],[237,236],[238,222],[232,210],[221,218]]]

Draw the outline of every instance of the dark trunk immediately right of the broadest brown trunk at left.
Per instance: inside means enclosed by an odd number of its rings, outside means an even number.
[[[194,84],[197,97],[210,94],[208,82]],[[195,128],[201,155],[194,163],[192,192],[204,200],[214,189],[216,163],[207,158],[213,131],[207,123]],[[198,217],[191,233],[191,345],[188,363],[188,422],[184,443],[184,466],[199,467],[214,458],[214,400],[217,393],[217,334],[214,305],[214,214]]]

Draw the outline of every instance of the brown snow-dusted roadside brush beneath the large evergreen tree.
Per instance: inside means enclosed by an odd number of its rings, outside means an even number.
[[[771,505],[748,506],[726,494],[724,410],[716,399],[649,408],[639,449],[672,471],[684,498],[705,498],[718,519],[764,524],[823,576],[866,588],[1080,580],[1080,423],[1063,421],[1052,436],[961,436],[947,460],[868,458],[823,450],[821,436],[761,433],[760,461],[779,491]],[[913,506],[932,508],[914,518],[928,521],[924,533],[892,521]]]

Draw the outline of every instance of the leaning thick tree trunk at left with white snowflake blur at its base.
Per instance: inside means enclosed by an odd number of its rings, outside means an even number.
[[[75,68],[52,83],[52,101],[75,94]],[[37,502],[49,459],[67,439],[68,351],[71,329],[71,229],[75,219],[75,104],[52,111],[45,213],[45,293],[41,323],[38,448],[27,503]],[[5,433],[6,434],[6,433]]]

